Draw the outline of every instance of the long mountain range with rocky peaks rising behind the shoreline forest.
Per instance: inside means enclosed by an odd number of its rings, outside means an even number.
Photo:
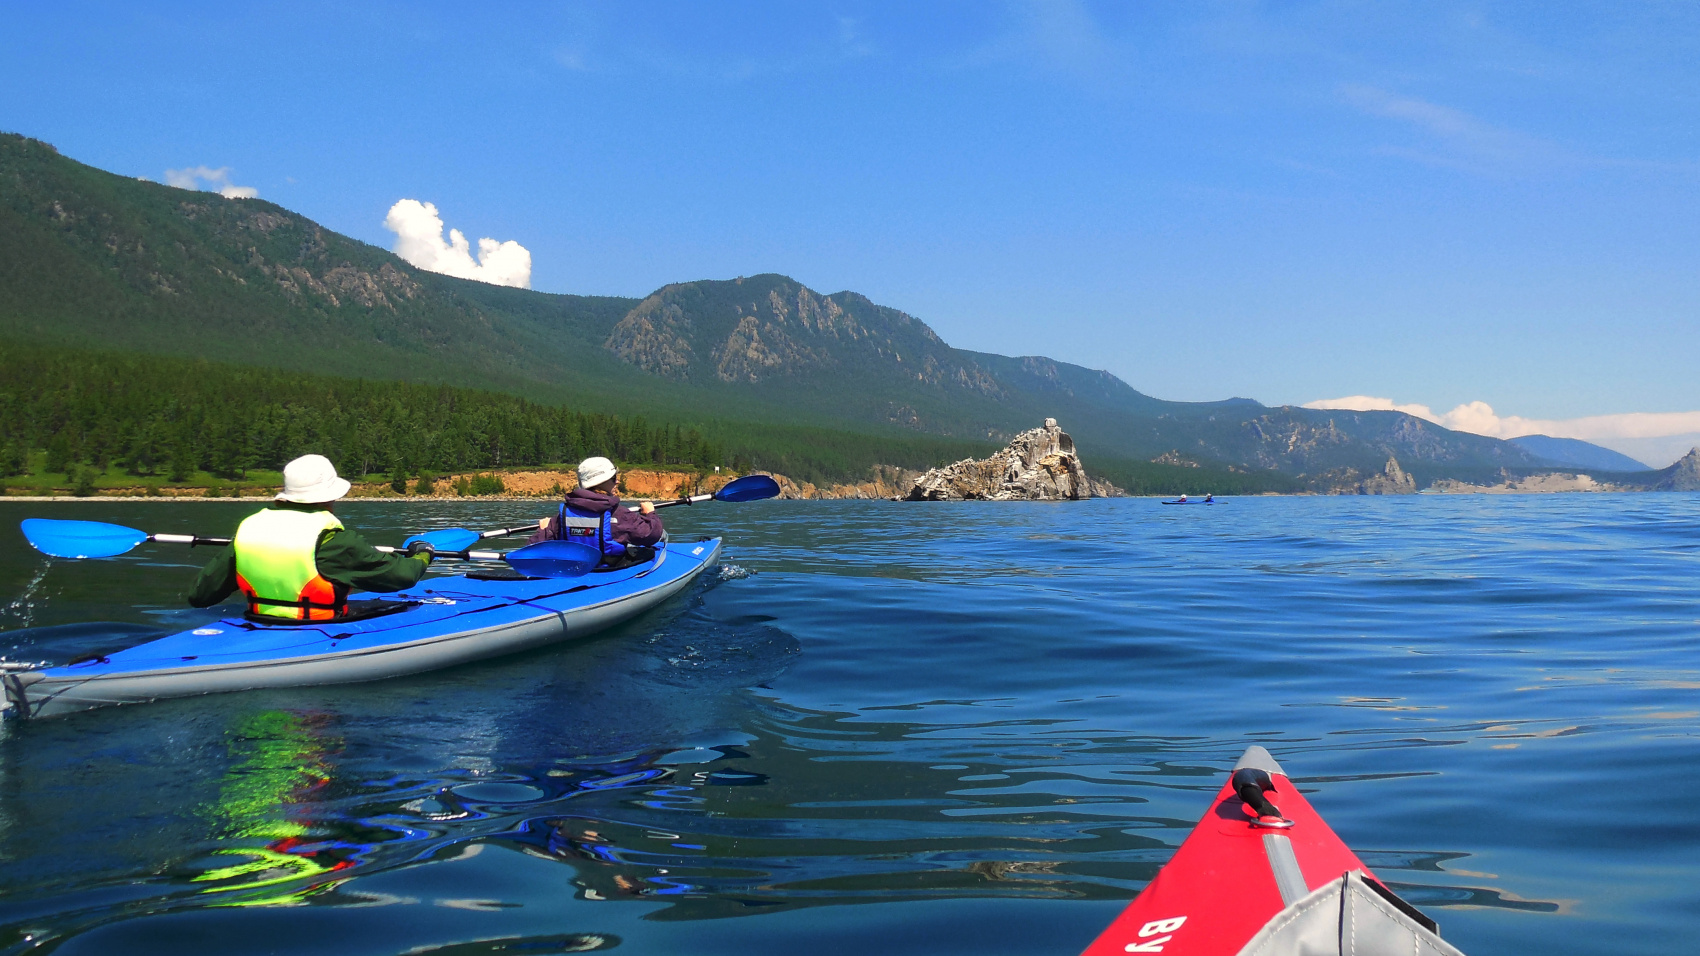
[[[1389,458],[1420,485],[1640,468],[1586,442],[1506,442],[1401,412],[1163,401],[1103,371],[952,349],[911,315],[785,276],[678,282],[643,299],[452,279],[270,202],[112,175],[14,134],[0,134],[0,333],[706,427],[935,435],[952,451],[1054,417],[1095,473],[1198,469],[1197,490],[1209,475],[1326,490]]]

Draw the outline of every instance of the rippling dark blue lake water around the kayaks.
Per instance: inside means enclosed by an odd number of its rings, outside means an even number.
[[[204,553],[48,565],[19,519],[252,507],[0,504],[0,653],[211,617]],[[585,643],[8,723],[0,954],[1068,956],[1250,743],[1465,953],[1700,937],[1697,495],[666,517],[724,573]]]

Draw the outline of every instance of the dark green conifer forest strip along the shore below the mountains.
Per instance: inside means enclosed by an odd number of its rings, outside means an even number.
[[[139,481],[197,473],[238,480],[320,452],[345,475],[405,475],[573,463],[774,469],[802,481],[877,463],[930,468],[989,444],[898,441],[736,422],[678,425],[586,413],[440,384],[0,344],[0,480],[75,483],[78,471]],[[36,475],[26,476],[29,466]]]

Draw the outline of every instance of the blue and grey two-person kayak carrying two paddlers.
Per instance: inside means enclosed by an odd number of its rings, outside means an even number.
[[[0,662],[8,718],[257,687],[381,680],[500,657],[612,628],[685,590],[721,539],[668,543],[654,560],[570,578],[425,577],[386,595],[391,614],[323,624],[224,617],[60,667]]]

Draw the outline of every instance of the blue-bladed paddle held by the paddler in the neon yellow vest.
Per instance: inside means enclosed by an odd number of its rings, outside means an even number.
[[[29,517],[24,519],[19,527],[24,531],[24,539],[29,541],[31,548],[53,558],[114,558],[144,541],[158,541],[162,544],[230,544],[230,538],[201,538],[199,534],[148,534],[146,531],[124,527],[122,524],[107,524],[102,521]],[[393,555],[396,551],[405,551],[406,548],[377,544],[376,549]],[[522,575],[551,578],[578,577],[602,563],[600,551],[575,541],[541,541],[513,551],[468,551],[464,546],[449,549],[437,548],[437,544],[432,543],[432,549],[439,558],[459,558],[462,561],[507,561],[508,566]]]

